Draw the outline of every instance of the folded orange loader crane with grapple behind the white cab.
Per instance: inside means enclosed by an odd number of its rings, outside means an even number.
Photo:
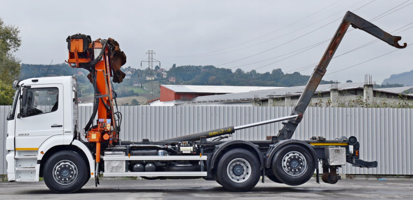
[[[120,83],[125,73],[120,67],[126,63],[126,55],[119,48],[119,43],[112,39],[96,39],[92,41],[89,35],[74,34],[68,36],[67,48],[69,58],[66,61],[74,68],[84,68],[89,71],[87,78],[94,88],[93,113],[85,126],[86,138],[96,145],[96,174],[100,162],[100,145],[106,147],[119,144],[119,124],[121,113],[114,112],[117,106],[116,92],[112,81]],[[97,125],[90,126],[97,112]]]

